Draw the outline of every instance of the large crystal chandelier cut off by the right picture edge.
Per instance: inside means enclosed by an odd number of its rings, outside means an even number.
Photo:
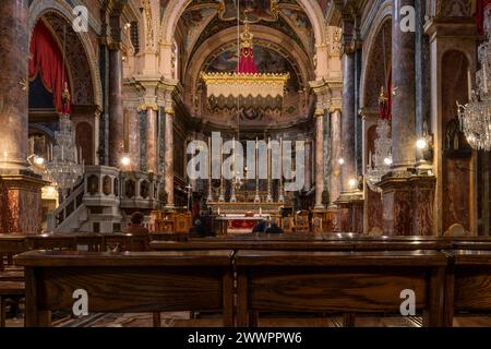
[[[491,17],[486,9],[487,41],[478,49],[481,70],[476,73],[476,86],[470,101],[462,106],[457,101],[460,128],[469,145],[478,151],[491,151],[491,94],[489,91],[491,69]]]

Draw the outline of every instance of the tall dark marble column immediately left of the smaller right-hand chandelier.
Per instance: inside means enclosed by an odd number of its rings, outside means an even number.
[[[350,193],[355,188],[349,181],[356,179],[355,159],[355,56],[343,55],[343,119],[342,119],[342,193]]]

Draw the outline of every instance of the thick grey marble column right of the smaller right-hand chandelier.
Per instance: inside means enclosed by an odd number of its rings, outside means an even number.
[[[392,100],[393,170],[404,172],[416,161],[416,80],[415,33],[400,28],[400,9],[415,7],[415,0],[394,2],[392,31],[392,82],[395,95]]]

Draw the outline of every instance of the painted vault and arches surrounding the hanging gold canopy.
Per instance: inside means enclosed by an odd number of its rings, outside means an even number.
[[[165,8],[168,0],[160,0]],[[231,33],[237,27],[237,8],[233,0],[193,0],[182,13],[178,23],[180,37],[180,76],[195,74],[196,71],[232,72],[237,68],[237,39],[228,35],[224,39],[223,33]],[[243,21],[253,23],[254,29],[270,33],[268,38],[256,35],[254,38],[254,57],[259,71],[262,73],[290,73],[284,108],[278,112],[267,115],[255,113],[252,110],[242,112],[241,119],[252,124],[263,122],[289,123],[307,113],[310,97],[307,94],[306,82],[313,74],[313,59],[315,45],[312,24],[297,0],[241,0],[239,13]],[[254,33],[253,34],[259,34]],[[206,51],[203,48],[214,41],[225,40],[224,45]],[[296,47],[295,55],[290,52]],[[298,61],[298,57],[304,57]],[[200,62],[200,63],[197,63]],[[203,64],[196,69],[195,64]],[[299,65],[308,65],[301,71]],[[189,80],[191,85],[199,84],[196,80]],[[195,95],[189,99],[193,115],[223,122],[224,116],[206,108],[201,86],[184,86],[194,91]],[[199,101],[196,101],[199,99]],[[200,108],[196,108],[200,105]]]

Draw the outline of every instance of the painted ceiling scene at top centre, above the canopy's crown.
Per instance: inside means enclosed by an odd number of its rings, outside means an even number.
[[[243,0],[240,2],[239,9],[236,0],[219,0],[220,20],[237,21],[238,12],[240,12],[241,22],[276,22],[278,20],[278,0]]]

